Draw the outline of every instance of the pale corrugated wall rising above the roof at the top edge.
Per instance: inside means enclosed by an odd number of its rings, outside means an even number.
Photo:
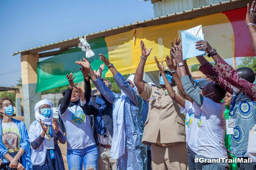
[[[154,3],[154,15],[159,17],[220,2],[229,2],[229,0],[161,0]]]

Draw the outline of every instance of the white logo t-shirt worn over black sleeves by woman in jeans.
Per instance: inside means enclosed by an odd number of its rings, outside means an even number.
[[[66,128],[67,150],[83,149],[96,144],[91,132],[90,118],[83,113],[80,106],[68,107],[60,117]]]

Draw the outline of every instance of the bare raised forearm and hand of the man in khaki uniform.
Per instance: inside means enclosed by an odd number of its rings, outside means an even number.
[[[139,61],[139,65],[135,72],[134,84],[138,88],[139,92],[142,93],[144,91],[145,81],[143,81],[143,73],[144,67],[146,64],[146,60],[150,55],[152,48],[147,50],[144,42],[141,40],[141,60]]]

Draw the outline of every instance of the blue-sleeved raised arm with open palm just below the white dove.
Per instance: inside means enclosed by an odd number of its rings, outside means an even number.
[[[76,64],[79,64],[80,66],[84,67],[88,70],[91,80],[98,91],[100,91],[101,95],[103,95],[106,100],[108,100],[111,104],[113,104],[115,100],[115,93],[111,91],[104,82],[102,82],[101,79],[99,79],[96,75],[93,69],[91,68],[90,63],[87,60],[82,61],[76,61]]]

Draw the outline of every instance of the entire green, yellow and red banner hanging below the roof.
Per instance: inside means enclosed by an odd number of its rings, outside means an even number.
[[[222,58],[255,56],[245,24],[246,10],[247,8],[243,7],[191,20],[141,27],[136,31],[131,30],[90,40],[88,42],[95,53],[95,56],[90,59],[91,65],[93,69],[97,70],[102,64],[98,54],[103,53],[109,57],[109,61],[120,73],[124,75],[135,73],[141,56],[140,40],[143,40],[148,49],[153,48],[147,59],[145,72],[158,70],[154,56],[160,60],[164,59],[170,53],[171,40],[181,37],[181,31],[198,25],[202,25],[204,39],[209,42],[211,47],[217,49],[217,53]],[[134,36],[135,41],[133,42]],[[83,81],[82,73],[79,71],[78,65],[75,64],[76,60],[83,57],[85,57],[85,53],[80,48],[74,48],[38,62],[37,92],[67,85],[65,75],[70,72],[74,73],[76,77],[74,82]],[[211,58],[206,58],[213,61]],[[193,65],[198,64],[198,61],[193,57],[188,59],[187,63]],[[111,76],[112,73],[105,67],[103,77]]]

